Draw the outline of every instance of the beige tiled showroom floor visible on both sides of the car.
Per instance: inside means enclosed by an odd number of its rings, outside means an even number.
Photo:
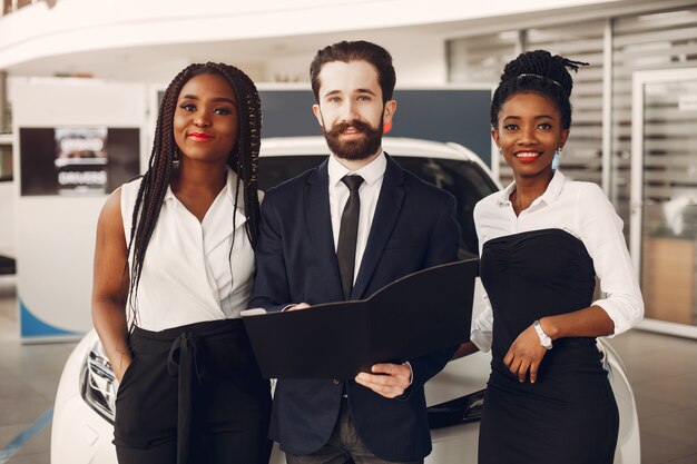
[[[16,310],[13,285],[0,280],[0,464],[48,464],[50,426],[9,460],[2,450],[52,406],[75,344],[21,345]],[[634,330],[611,344],[637,399],[642,464],[697,464],[697,340]]]

